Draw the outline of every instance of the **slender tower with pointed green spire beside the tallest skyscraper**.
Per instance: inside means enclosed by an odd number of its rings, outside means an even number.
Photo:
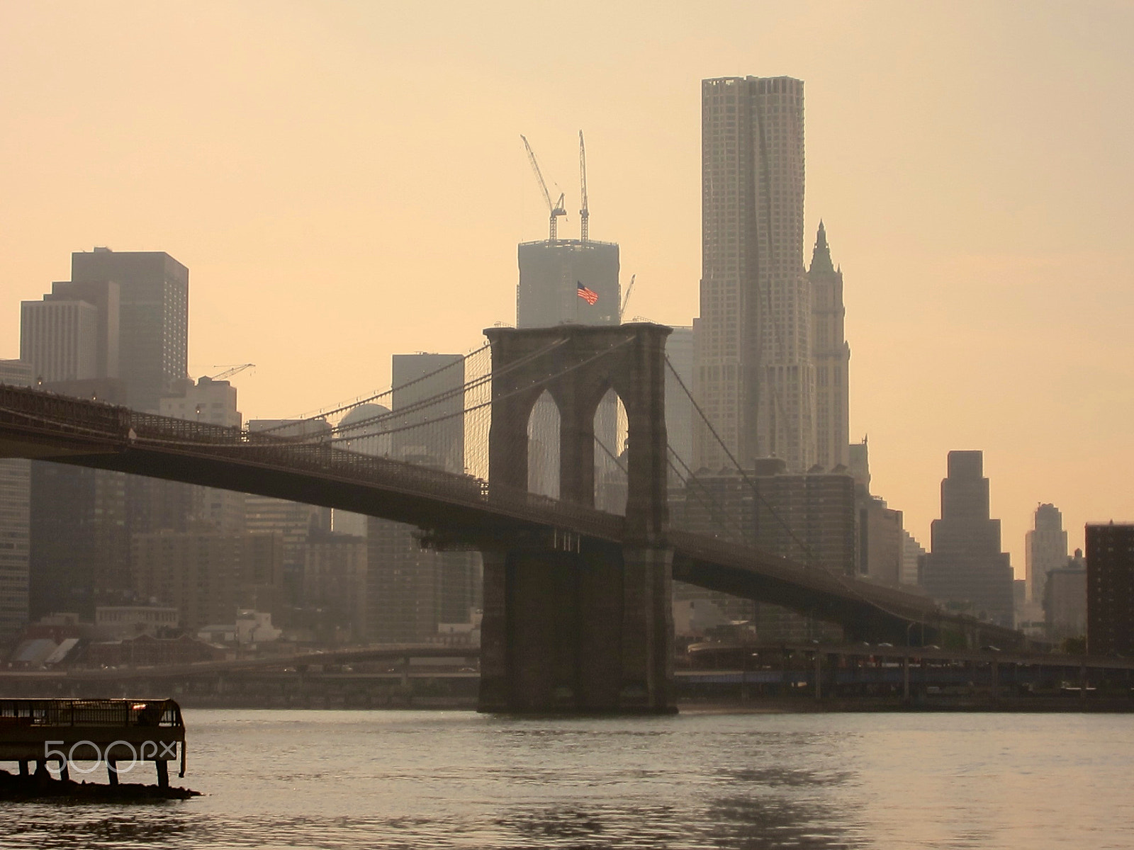
[[[832,469],[848,462],[850,346],[846,341],[843,272],[831,262],[827,230],[819,222],[811,255],[811,352],[815,364],[815,462]]]

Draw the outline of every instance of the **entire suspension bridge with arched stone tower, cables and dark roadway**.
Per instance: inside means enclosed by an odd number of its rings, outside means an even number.
[[[649,323],[492,328],[474,352],[490,366],[471,376],[466,366],[459,390],[373,422],[329,425],[371,400],[363,399],[313,417],[328,427],[305,436],[0,386],[0,457],[347,510],[416,526],[426,546],[479,550],[482,711],[670,711],[675,579],[837,623],[854,640],[908,644],[955,632],[971,645],[1019,641],[1017,632],[924,596],[860,579],[847,566],[761,551],[723,524],[717,535],[672,527],[671,476],[699,499],[712,494],[693,486],[688,459],[667,440],[669,332]],[[595,433],[595,411],[610,392],[625,409],[625,452]],[[528,488],[532,411],[544,393],[559,415],[556,499]],[[458,417],[466,454],[485,460],[483,474],[354,450],[359,427],[413,431],[428,444]],[[716,436],[708,420],[703,426]],[[595,508],[596,448],[625,476],[624,516]]]

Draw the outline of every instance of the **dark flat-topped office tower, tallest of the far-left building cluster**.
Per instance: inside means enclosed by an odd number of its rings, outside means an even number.
[[[164,252],[95,248],[71,254],[73,284],[119,288],[119,376],[129,406],[156,413],[188,374],[189,270]]]

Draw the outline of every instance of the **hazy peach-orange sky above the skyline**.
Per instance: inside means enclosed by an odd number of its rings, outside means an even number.
[[[246,417],[389,382],[515,321],[545,235],[621,244],[628,313],[688,324],[700,80],[805,80],[807,258],[846,280],[850,432],[928,545],[950,449],[983,449],[1023,576],[1134,520],[1134,3],[0,2],[0,357],[70,253],[189,266],[189,363],[254,362]]]

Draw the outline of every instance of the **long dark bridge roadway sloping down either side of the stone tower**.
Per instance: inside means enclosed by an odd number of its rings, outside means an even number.
[[[417,526],[438,547],[581,551],[626,542],[623,517],[328,442],[248,433],[0,385],[0,458],[50,460],[220,487]],[[674,578],[843,626],[855,639],[924,631],[1014,646],[1018,632],[949,614],[919,594],[670,529]],[[914,627],[917,630],[911,631]]]

